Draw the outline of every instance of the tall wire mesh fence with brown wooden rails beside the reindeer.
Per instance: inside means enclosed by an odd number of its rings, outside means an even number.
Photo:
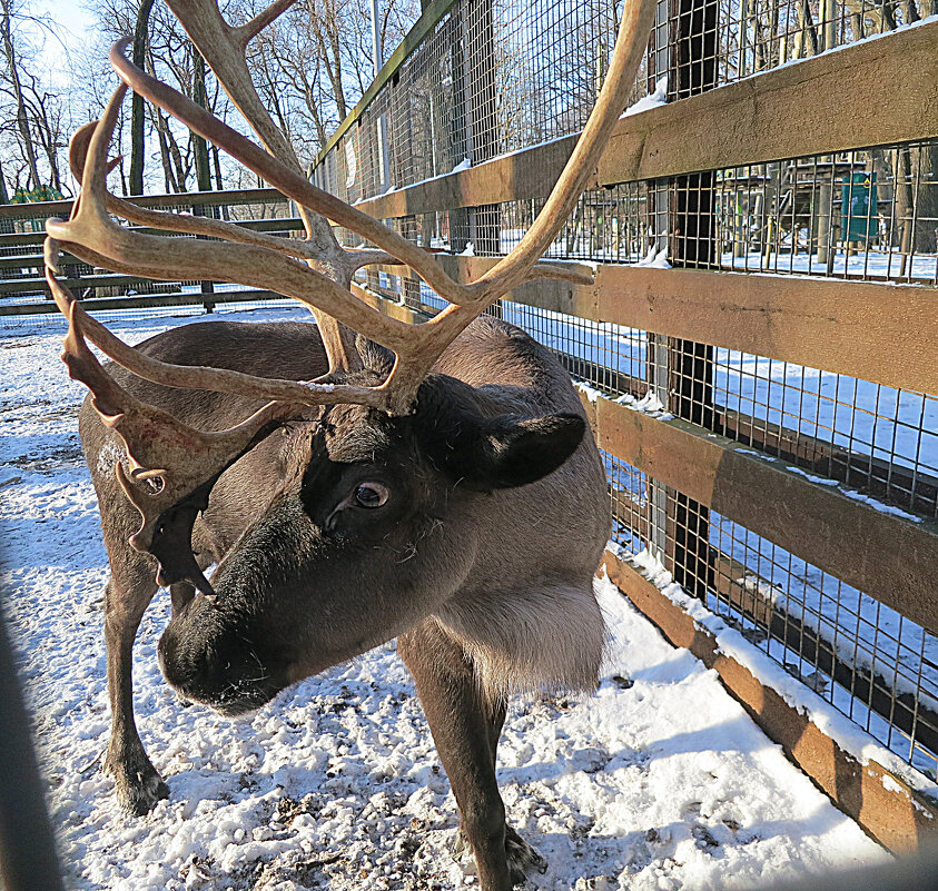
[[[429,4],[317,185],[477,277],[570,156],[620,9]],[[667,105],[620,121],[549,251],[594,286],[493,310],[583,382],[610,576],[893,849],[938,816],[936,12],[661,0],[633,99]],[[399,267],[356,289],[443,306]]]

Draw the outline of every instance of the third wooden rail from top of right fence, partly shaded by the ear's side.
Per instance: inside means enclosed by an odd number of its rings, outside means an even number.
[[[938,633],[938,528],[877,511],[779,459],[600,397],[601,448]]]

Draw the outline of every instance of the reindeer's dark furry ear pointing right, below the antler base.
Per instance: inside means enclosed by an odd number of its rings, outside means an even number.
[[[480,492],[535,483],[560,467],[583,439],[586,422],[559,414],[480,419],[474,435],[453,451],[448,467],[463,485]]]

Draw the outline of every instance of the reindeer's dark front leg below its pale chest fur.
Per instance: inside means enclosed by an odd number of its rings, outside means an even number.
[[[543,861],[505,825],[495,780],[495,746],[504,705],[478,687],[462,647],[427,620],[397,641],[417,685],[440,760],[462,814],[462,833],[475,854],[482,891],[510,891]]]

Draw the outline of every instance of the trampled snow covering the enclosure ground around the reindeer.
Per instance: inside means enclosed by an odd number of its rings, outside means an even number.
[[[161,313],[111,327],[140,340],[176,323]],[[23,323],[0,339],[0,522],[6,611],[68,887],[465,887],[468,864],[450,854],[455,804],[393,643],[229,721],[181,707],[162,682],[165,592],[144,617],[135,685],[170,798],[145,819],[117,811],[99,770],[107,563],[76,434],[83,389],[56,358],[62,333]],[[598,593],[611,637],[596,694],[516,701],[505,725],[509,819],[550,861],[527,888],[705,891],[887,859],[713,672],[668,645],[608,582]]]

